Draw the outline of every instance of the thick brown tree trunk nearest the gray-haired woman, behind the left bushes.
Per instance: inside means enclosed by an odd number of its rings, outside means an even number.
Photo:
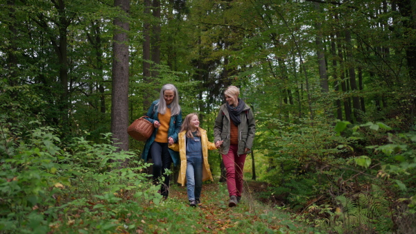
[[[112,106],[111,132],[114,144],[120,150],[128,150],[128,30],[126,19],[130,10],[129,0],[114,0],[114,6],[121,8],[119,17],[114,19],[113,64],[112,64]],[[118,144],[120,143],[120,144]],[[127,162],[125,162],[127,163]]]

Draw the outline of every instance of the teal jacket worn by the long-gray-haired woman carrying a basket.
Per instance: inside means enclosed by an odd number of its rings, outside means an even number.
[[[150,106],[148,113],[146,116],[149,118],[146,118],[146,120],[149,120],[150,123],[155,123],[155,121],[159,121],[159,118],[157,118],[157,114],[159,114],[159,111],[157,111],[157,108],[155,108],[156,104],[159,102],[159,100],[155,100],[152,105]],[[180,126],[182,125],[182,111],[177,116],[171,116],[171,122],[169,123],[169,129],[168,129],[168,138],[172,137],[173,141],[177,143],[177,134],[179,134]],[[150,145],[152,145],[153,141],[155,141],[156,138],[157,129],[153,131],[152,135],[148,138],[146,141],[146,144],[144,145],[143,152],[141,153],[141,159],[144,159],[146,162],[150,156]],[[169,149],[169,153],[171,154],[172,161],[174,165],[177,165],[179,163],[179,152],[175,152],[171,149]]]

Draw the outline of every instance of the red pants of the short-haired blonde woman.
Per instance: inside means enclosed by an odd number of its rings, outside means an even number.
[[[227,188],[229,196],[241,197],[243,192],[243,169],[245,156],[237,154],[238,145],[229,145],[228,154],[223,154],[223,162],[227,170]]]

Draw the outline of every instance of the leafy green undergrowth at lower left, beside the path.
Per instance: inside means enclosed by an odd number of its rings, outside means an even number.
[[[144,172],[148,164],[133,152],[118,152],[110,134],[106,143],[73,138],[64,146],[51,127],[26,123],[33,130],[22,136],[6,120],[0,120],[0,231],[46,233],[50,222],[71,224],[80,213],[85,219],[99,214],[105,219],[97,230],[114,231],[117,217],[139,206],[135,200],[162,199]],[[122,167],[126,161],[129,167]]]

